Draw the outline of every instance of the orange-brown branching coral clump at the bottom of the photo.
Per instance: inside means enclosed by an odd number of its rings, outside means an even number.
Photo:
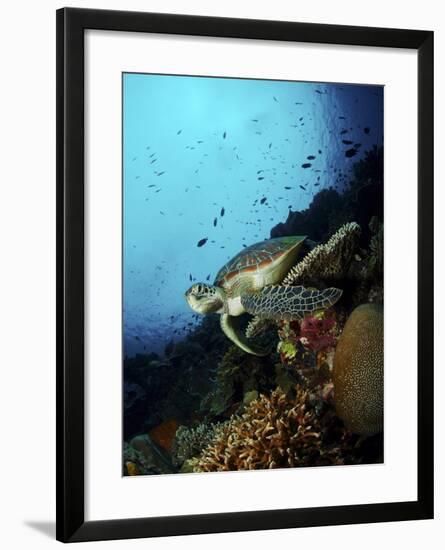
[[[297,386],[289,398],[277,388],[252,401],[242,416],[224,424],[214,442],[194,460],[195,472],[255,470],[341,463],[321,449],[320,422],[308,407],[309,393]]]

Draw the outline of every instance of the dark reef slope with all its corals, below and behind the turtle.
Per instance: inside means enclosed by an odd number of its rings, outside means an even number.
[[[212,314],[164,357],[125,359],[124,475],[382,461],[382,163],[368,151],[344,192],[272,229],[308,236],[285,284],[343,291],[301,321],[242,316],[277,353],[244,353]]]

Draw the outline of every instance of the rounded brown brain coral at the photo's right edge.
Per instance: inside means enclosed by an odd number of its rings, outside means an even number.
[[[352,432],[383,430],[383,307],[358,306],[347,320],[334,357],[338,416]]]

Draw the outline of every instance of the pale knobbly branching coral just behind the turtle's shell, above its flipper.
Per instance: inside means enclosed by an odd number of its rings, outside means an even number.
[[[343,277],[354,256],[360,231],[360,226],[355,222],[340,227],[327,243],[316,246],[294,266],[282,284],[301,284],[307,277],[320,279]]]

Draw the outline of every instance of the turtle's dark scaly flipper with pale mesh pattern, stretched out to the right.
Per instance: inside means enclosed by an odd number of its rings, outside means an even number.
[[[331,307],[341,295],[338,288],[308,290],[303,286],[272,285],[259,292],[244,293],[241,304],[248,313],[263,319],[290,321]]]

